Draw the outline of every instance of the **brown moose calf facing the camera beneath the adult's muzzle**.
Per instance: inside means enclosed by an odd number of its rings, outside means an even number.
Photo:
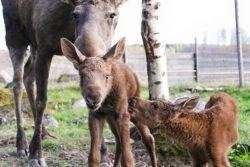
[[[133,167],[128,112],[128,99],[139,97],[139,82],[136,75],[124,63],[118,61],[124,53],[125,39],[120,40],[103,57],[85,57],[70,41],[61,40],[64,55],[73,62],[80,75],[82,95],[89,108],[91,149],[89,166],[100,164],[100,147],[103,125],[107,120],[116,138],[114,166]],[[147,126],[131,118],[139,129],[156,167],[154,138]]]

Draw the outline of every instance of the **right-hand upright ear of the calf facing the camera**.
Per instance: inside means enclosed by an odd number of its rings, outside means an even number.
[[[104,55],[106,62],[118,60],[125,53],[125,38],[120,39],[109,51]]]

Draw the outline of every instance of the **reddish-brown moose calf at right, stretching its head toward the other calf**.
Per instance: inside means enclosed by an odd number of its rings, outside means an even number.
[[[229,167],[229,148],[238,138],[236,100],[226,93],[213,95],[200,112],[193,109],[198,97],[182,98],[175,103],[163,100],[130,99],[132,115],[162,134],[184,144],[193,166],[212,163],[214,167]]]

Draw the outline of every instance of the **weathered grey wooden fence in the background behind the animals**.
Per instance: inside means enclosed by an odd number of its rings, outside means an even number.
[[[207,85],[238,85],[239,71],[236,52],[198,52],[167,54],[168,81],[170,85],[193,85],[196,82]],[[244,52],[244,79],[250,82],[250,52]],[[0,52],[0,76],[9,75],[13,70],[8,53]],[[137,73],[142,83],[147,83],[145,55],[127,54],[126,62]],[[62,74],[78,75],[65,57],[55,56],[52,61],[50,79],[58,80]]]

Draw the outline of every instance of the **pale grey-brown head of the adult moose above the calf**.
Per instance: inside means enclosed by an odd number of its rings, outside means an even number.
[[[111,46],[118,6],[125,0],[62,0],[73,5],[75,45],[85,56],[103,55]]]

